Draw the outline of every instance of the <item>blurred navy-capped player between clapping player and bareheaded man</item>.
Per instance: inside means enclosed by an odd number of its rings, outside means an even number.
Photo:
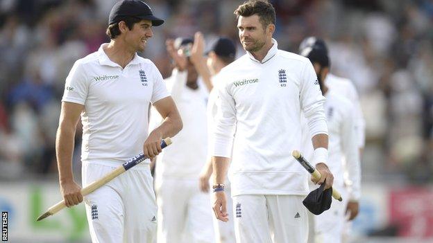
[[[212,75],[212,85],[214,88],[210,91],[209,100],[207,101],[207,136],[208,144],[212,144],[212,135],[214,127],[214,120],[217,118],[217,98],[218,98],[218,88],[217,86],[223,82],[219,79],[219,71],[223,69],[235,60],[236,57],[236,46],[231,39],[226,37],[219,37],[210,51],[207,52],[207,67]],[[209,192],[209,179],[212,175],[212,152],[209,150],[207,152],[207,162],[203,167],[200,174],[200,188],[203,192]],[[226,179],[226,195],[227,195],[227,206],[232,208],[232,199],[230,193],[230,181]],[[235,242],[235,227],[233,224],[233,215],[230,213],[228,215],[229,223],[225,224],[215,217],[214,219],[214,229],[217,242]]]

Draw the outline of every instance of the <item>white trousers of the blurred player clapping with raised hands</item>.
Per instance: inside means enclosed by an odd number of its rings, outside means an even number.
[[[212,207],[197,179],[164,177],[155,181],[158,243],[212,243]]]

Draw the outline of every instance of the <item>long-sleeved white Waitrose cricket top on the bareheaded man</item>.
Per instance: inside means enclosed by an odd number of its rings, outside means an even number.
[[[247,52],[220,75],[213,155],[232,154],[232,196],[306,195],[307,172],[291,156],[300,147],[301,112],[312,136],[328,134],[311,62],[278,50],[273,39],[262,62]]]

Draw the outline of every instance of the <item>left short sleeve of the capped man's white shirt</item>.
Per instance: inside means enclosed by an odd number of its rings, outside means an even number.
[[[89,91],[89,82],[83,64],[76,61],[67,75],[62,101],[84,105]]]

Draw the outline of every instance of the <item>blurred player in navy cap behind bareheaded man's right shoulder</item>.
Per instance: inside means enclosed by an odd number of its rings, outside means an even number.
[[[307,46],[301,55],[308,57],[314,66],[321,91],[326,98],[325,114],[328,120],[329,158],[328,166],[334,174],[334,188],[341,192],[343,198],[348,196],[348,188],[344,185],[344,160],[350,179],[350,199],[359,200],[360,196],[360,165],[356,130],[355,109],[352,102],[333,89],[328,88],[325,78],[329,72],[328,51],[321,45]],[[307,143],[303,150],[312,150],[312,144]],[[346,221],[347,200],[334,201],[330,210],[314,216],[314,242],[341,242],[343,225]]]

